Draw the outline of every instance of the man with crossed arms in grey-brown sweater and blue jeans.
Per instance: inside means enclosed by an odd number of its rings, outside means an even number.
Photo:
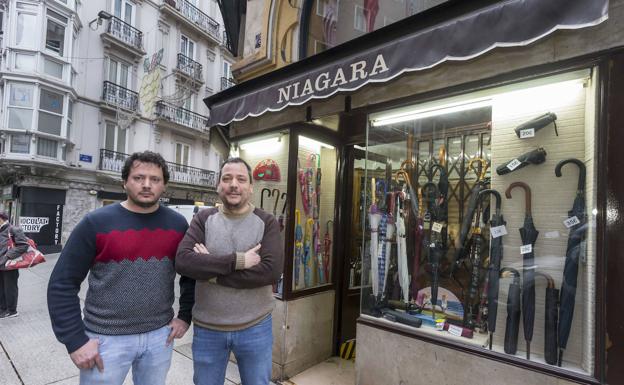
[[[272,284],[284,263],[275,217],[250,203],[251,168],[240,158],[221,165],[223,205],[200,211],[178,248],[176,270],[197,280],[193,307],[193,381],[223,385],[234,353],[243,385],[271,378]]]

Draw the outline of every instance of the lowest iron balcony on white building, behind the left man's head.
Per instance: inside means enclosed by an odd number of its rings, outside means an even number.
[[[130,155],[101,149],[99,169],[101,171],[121,174],[124,162],[128,156]],[[169,168],[169,182],[213,189],[217,187],[217,173],[214,171],[172,162],[167,162],[167,167]]]

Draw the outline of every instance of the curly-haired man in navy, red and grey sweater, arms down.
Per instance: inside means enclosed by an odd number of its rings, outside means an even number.
[[[159,204],[169,181],[159,154],[134,153],[121,172],[127,199],[87,214],[72,231],[48,284],[56,338],[80,368],[80,384],[164,385],[191,321],[195,282],[180,278],[174,318],[174,258],[186,219]],[[80,313],[80,284],[89,275]]]

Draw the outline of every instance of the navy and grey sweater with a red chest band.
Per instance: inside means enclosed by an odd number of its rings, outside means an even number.
[[[56,338],[71,353],[89,331],[107,335],[158,329],[173,318],[174,259],[188,225],[160,206],[149,214],[121,204],[89,213],[74,228],[48,284],[48,310]],[[80,315],[78,292],[89,274]],[[178,318],[190,323],[195,282],[180,278]]]

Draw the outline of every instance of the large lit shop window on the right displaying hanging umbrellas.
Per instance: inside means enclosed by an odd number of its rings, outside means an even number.
[[[595,102],[577,71],[370,115],[362,317],[593,373]]]

